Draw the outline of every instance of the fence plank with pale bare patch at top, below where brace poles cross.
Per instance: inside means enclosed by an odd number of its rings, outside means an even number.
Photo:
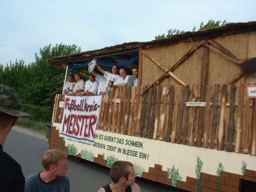
[[[162,112],[160,112],[160,137],[159,140],[164,140],[165,134],[165,126],[166,126],[166,107],[167,107],[167,97],[169,94],[169,87],[164,87],[162,91]]]

